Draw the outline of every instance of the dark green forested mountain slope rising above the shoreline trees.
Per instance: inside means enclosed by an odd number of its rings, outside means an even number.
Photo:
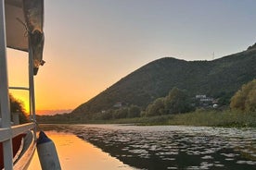
[[[228,104],[234,93],[256,78],[255,44],[248,50],[212,61],[186,61],[164,57],[140,67],[106,91],[81,104],[71,115],[85,116],[113,108],[117,103],[146,108],[173,87],[191,97],[205,94]]]

